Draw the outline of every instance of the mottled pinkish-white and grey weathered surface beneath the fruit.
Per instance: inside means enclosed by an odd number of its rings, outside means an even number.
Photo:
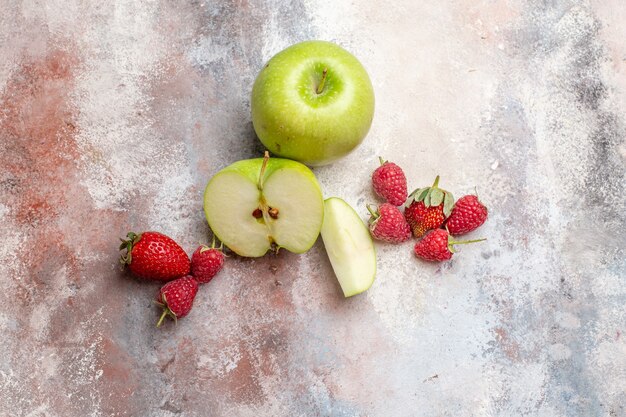
[[[626,416],[626,8],[606,1],[0,0],[0,416]],[[209,239],[260,156],[249,94],[306,39],[367,68],[364,143],[314,171],[366,217],[384,156],[490,219],[446,264],[321,240],[230,257],[177,326],[119,237]]]

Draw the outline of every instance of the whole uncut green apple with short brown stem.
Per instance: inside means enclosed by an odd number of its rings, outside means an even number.
[[[267,149],[320,166],[363,141],[374,117],[374,89],[348,51],[331,42],[306,41],[269,60],[254,82],[251,107],[254,130]]]

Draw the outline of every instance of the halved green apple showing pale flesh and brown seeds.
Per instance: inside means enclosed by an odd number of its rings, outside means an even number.
[[[206,186],[204,213],[213,233],[241,256],[271,248],[306,252],[322,227],[324,200],[315,175],[288,159],[247,159],[219,171]]]

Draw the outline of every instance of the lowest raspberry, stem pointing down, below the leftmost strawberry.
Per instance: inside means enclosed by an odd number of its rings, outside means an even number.
[[[191,275],[175,279],[162,286],[157,294],[156,303],[163,307],[163,314],[159,318],[157,327],[163,323],[165,316],[170,316],[176,321],[189,314],[197,292],[198,283]]]

